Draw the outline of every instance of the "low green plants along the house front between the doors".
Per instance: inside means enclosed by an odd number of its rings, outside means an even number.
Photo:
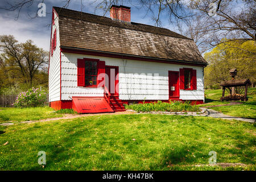
[[[148,111],[169,111],[169,112],[181,112],[181,111],[200,111],[199,106],[191,105],[189,101],[170,101],[170,102],[151,102],[143,104],[125,105],[125,109],[132,109],[137,112]]]

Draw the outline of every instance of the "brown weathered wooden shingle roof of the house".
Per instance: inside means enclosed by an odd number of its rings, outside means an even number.
[[[53,8],[59,15],[60,47],[207,64],[192,39],[166,28]]]

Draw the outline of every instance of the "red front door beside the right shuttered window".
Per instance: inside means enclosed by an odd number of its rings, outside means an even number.
[[[169,71],[169,98],[179,99],[180,85],[179,85],[179,72]]]

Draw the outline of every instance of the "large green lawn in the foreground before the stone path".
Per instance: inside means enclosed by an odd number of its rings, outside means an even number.
[[[255,170],[255,124],[182,115],[95,115],[0,126],[0,170]],[[9,142],[4,145],[4,143]],[[38,152],[46,151],[46,167]],[[212,167],[243,163],[242,167]]]

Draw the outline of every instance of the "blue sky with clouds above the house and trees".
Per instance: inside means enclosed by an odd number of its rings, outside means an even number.
[[[8,1],[2,0],[0,1],[0,7],[8,7],[7,3],[13,3],[16,0]],[[38,11],[38,3],[42,2],[42,0],[35,0],[32,5],[26,5],[23,7],[22,11],[20,11],[19,18],[17,11],[6,11],[0,9],[0,35],[14,35],[15,38],[19,42],[25,42],[28,39],[34,41],[34,43],[46,51],[49,51],[49,41],[51,36],[51,27],[49,24],[51,23],[51,13],[52,6],[62,7],[64,5],[64,0],[45,0],[46,4],[46,17],[39,18],[31,18],[31,16],[35,16]],[[96,3],[92,4],[94,0],[83,0],[83,9],[82,11],[86,13],[103,15],[103,10],[96,10]],[[151,24],[155,25],[154,21],[151,19],[151,15],[146,15],[146,10],[138,9],[136,6],[136,1],[134,4],[123,4],[125,6],[131,7],[131,21],[143,24]],[[135,6],[134,6],[135,5]],[[80,0],[72,0],[68,6],[68,9],[72,10],[81,10],[81,1]],[[109,17],[109,13],[105,15]],[[172,27],[168,22],[168,18],[164,19],[162,17],[162,27],[168,28],[172,31],[176,31],[175,27]]]

